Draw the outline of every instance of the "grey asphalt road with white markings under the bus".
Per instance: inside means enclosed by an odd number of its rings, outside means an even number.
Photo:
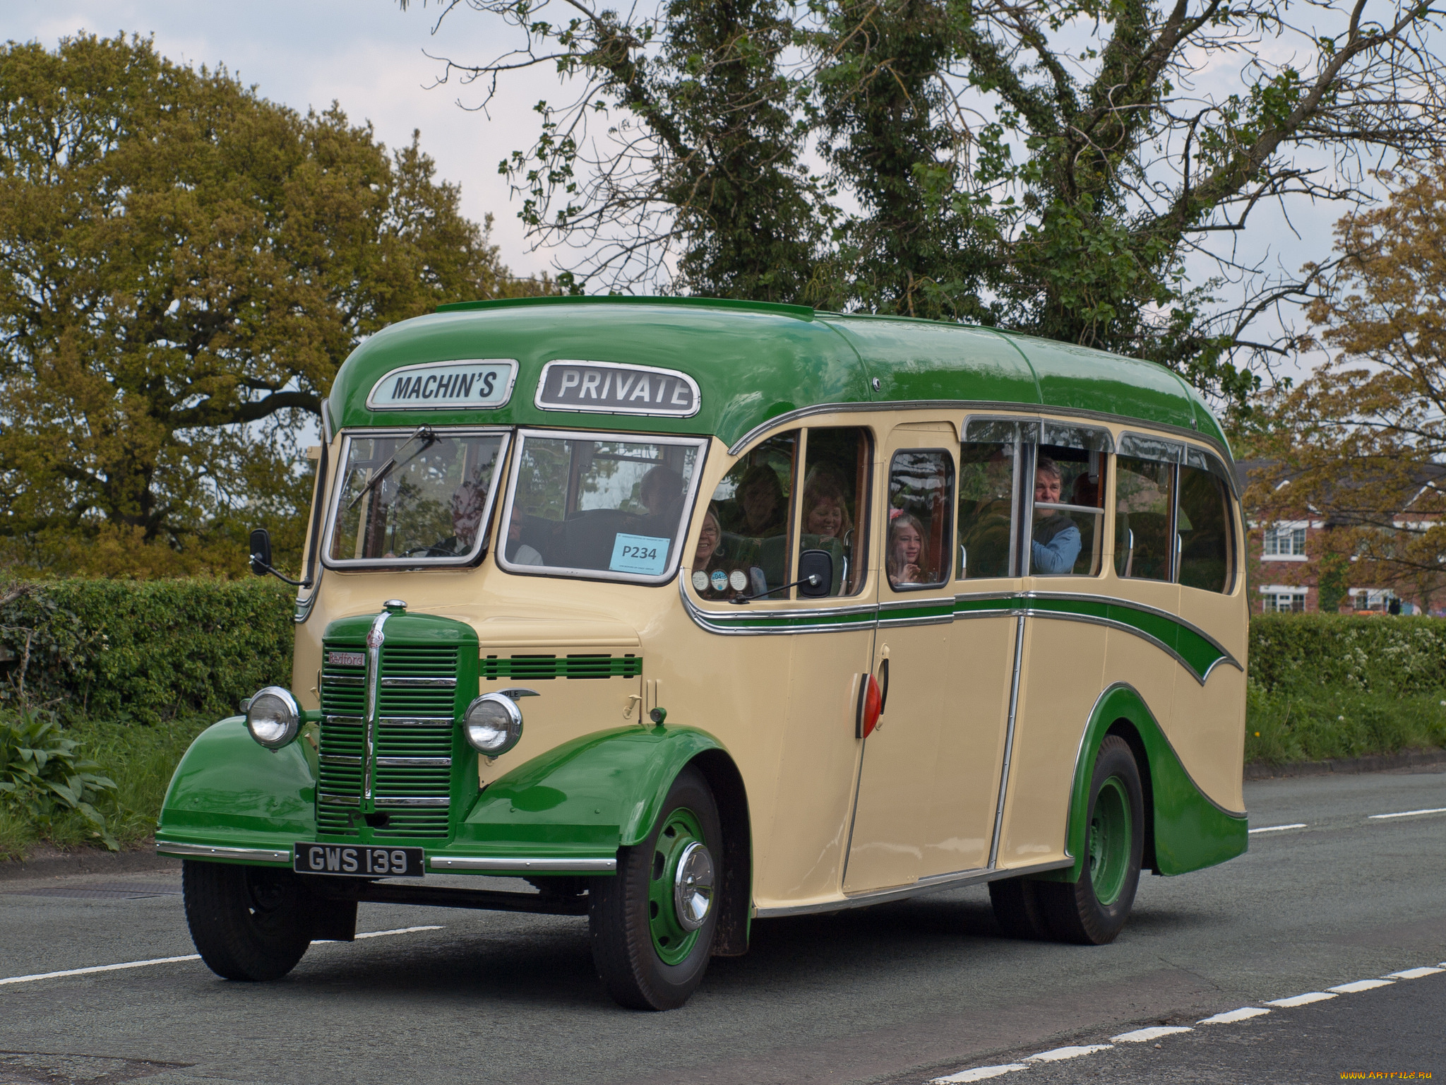
[[[275,984],[200,961],[179,872],[0,881],[0,1082],[1338,1081],[1446,1075],[1446,972],[1223,1024],[1222,1011],[1446,961],[1446,773],[1246,784],[1249,854],[1145,878],[1111,946],[1011,942],[979,888],[755,924],[683,1010],[616,1008],[586,920],[363,904]],[[469,882],[471,884],[471,882]],[[100,887],[100,888],[87,888]],[[142,893],[152,895],[139,895]],[[36,895],[40,894],[40,895]],[[1189,1027],[1145,1043],[1112,1036]],[[1158,1046],[1155,1046],[1158,1043]],[[1077,1059],[1031,1060],[1066,1046]],[[988,1071],[993,1073],[995,1071]]]

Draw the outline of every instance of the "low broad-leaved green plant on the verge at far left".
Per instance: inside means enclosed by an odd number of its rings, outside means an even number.
[[[100,765],[82,757],[80,746],[48,713],[29,707],[0,710],[0,801],[19,809],[42,830],[56,814],[74,810],[116,851],[119,843],[95,809],[103,796],[116,790],[116,781],[100,775]]]

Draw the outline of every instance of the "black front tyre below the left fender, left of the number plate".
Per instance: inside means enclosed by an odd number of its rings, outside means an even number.
[[[309,894],[292,871],[187,859],[181,888],[191,940],[224,979],[279,979],[311,945]]]

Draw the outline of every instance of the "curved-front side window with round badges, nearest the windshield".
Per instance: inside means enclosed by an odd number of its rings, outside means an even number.
[[[703,512],[693,587],[704,599],[782,599],[788,583],[790,496],[798,431],[769,437],[723,476]]]

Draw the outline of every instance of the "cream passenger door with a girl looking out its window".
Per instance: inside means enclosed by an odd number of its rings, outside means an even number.
[[[872,671],[884,710],[878,726],[857,736],[857,797],[844,893],[908,885],[923,869],[940,720],[954,696],[950,584],[956,450],[950,422],[895,427],[882,450],[885,479],[875,550],[882,569]]]

